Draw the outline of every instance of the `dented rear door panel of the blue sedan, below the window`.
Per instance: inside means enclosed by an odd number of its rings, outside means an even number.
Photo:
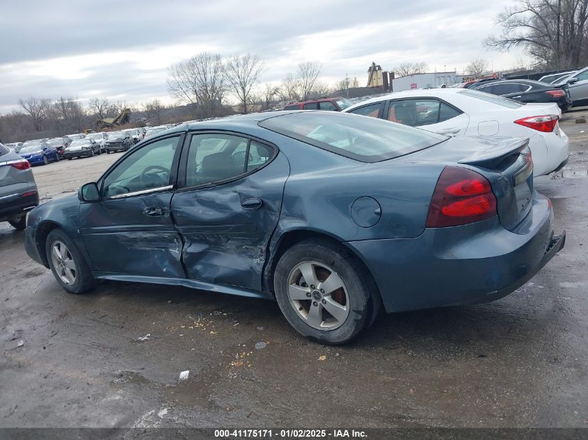
[[[267,244],[278,224],[289,163],[284,154],[228,184],[177,192],[173,217],[184,241],[188,277],[262,290]],[[262,206],[244,209],[246,199]]]

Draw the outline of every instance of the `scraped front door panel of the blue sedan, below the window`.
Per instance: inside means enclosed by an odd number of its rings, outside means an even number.
[[[182,240],[170,216],[172,193],[82,203],[81,235],[93,270],[150,277],[184,278]],[[145,209],[162,207],[151,217]]]

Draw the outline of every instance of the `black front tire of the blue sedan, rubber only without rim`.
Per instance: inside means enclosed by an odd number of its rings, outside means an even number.
[[[75,282],[73,284],[65,284],[65,282],[63,282],[57,274],[53,259],[51,259],[51,246],[56,241],[61,241],[67,246],[67,250],[69,250],[75,263]],[[53,272],[55,279],[61,285],[63,290],[70,293],[84,293],[94,287],[94,277],[92,276],[90,268],[88,268],[88,263],[86,263],[84,256],[81,254],[75,243],[71,241],[61,229],[54,229],[49,232],[47,241],[45,241],[45,252],[47,254],[47,261],[49,261],[51,272]]]

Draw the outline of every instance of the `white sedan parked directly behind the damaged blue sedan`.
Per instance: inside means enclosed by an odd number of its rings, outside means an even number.
[[[525,104],[461,88],[410,90],[360,102],[345,113],[379,117],[448,136],[529,138],[534,175],[562,168],[568,137],[556,104]]]

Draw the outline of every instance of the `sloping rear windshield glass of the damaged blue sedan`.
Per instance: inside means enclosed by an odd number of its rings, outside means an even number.
[[[385,161],[447,140],[447,136],[374,117],[328,111],[270,117],[259,125],[362,162]]]

